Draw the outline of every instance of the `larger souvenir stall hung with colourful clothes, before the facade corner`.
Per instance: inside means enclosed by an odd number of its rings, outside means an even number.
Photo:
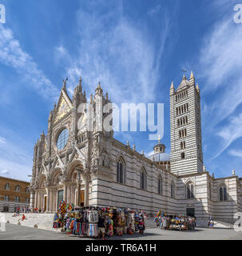
[[[105,240],[113,235],[144,234],[145,218],[144,211],[117,207],[74,208],[61,202],[58,212],[54,214],[53,227],[61,228],[65,234]]]

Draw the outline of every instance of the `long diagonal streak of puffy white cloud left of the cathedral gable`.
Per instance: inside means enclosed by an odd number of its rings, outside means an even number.
[[[56,97],[58,95],[58,90],[46,78],[42,70],[38,69],[34,59],[22,50],[20,42],[14,38],[13,31],[2,24],[0,24],[0,62],[21,74],[24,82],[42,96]]]

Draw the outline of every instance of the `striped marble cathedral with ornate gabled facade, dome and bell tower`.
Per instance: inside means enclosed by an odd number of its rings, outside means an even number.
[[[78,111],[87,103],[79,84],[69,98],[66,81],[54,110],[50,111],[47,134],[34,146],[30,206],[47,213],[58,210],[61,200],[75,206],[117,206],[155,214],[187,214],[198,220],[212,217],[234,222],[242,211],[242,178],[234,170],[226,178],[210,175],[203,163],[200,118],[200,88],[191,72],[170,97],[170,154],[159,139],[153,154],[146,157],[103,130],[103,106],[112,103],[100,83],[90,96],[87,112]],[[78,122],[81,120],[81,129]]]

